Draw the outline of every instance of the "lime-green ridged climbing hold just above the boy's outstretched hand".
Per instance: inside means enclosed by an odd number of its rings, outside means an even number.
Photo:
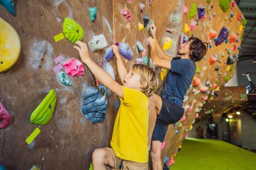
[[[83,38],[82,27],[76,21],[68,17],[65,18],[63,23],[63,33],[73,44]]]

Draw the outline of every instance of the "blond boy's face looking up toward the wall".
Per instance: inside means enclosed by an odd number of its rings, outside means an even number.
[[[140,90],[140,76],[132,69],[124,76],[123,86]]]

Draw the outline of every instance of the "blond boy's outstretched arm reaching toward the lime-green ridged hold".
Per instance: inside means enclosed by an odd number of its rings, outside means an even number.
[[[84,64],[92,71],[93,75],[105,85],[110,91],[117,94],[123,99],[123,91],[121,85],[119,85],[106,71],[100,68],[89,56],[87,45],[81,41],[76,43],[79,47],[74,46],[79,51],[80,58]]]

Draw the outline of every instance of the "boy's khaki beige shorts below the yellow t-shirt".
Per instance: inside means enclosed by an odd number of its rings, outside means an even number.
[[[122,162],[122,159],[116,156],[113,148],[104,148],[104,149],[109,150],[109,152],[111,153],[114,159],[115,168],[111,170],[119,170],[119,166]],[[148,163],[138,163],[138,162],[133,162],[128,160],[123,160],[121,170],[148,170]]]

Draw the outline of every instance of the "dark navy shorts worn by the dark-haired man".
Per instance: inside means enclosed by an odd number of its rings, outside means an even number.
[[[157,117],[152,140],[159,140],[163,143],[168,125],[175,124],[183,116],[184,109],[181,105],[161,99],[162,107]]]

